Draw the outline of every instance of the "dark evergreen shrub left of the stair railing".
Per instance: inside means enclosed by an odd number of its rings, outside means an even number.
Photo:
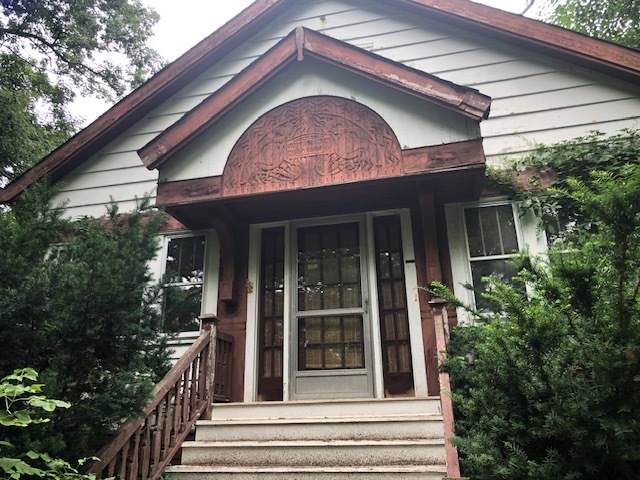
[[[148,262],[165,216],[146,210],[69,222],[34,185],[0,215],[0,372],[41,372],[46,394],[73,404],[16,444],[62,455],[94,454],[138,414],[167,370],[159,288]]]

